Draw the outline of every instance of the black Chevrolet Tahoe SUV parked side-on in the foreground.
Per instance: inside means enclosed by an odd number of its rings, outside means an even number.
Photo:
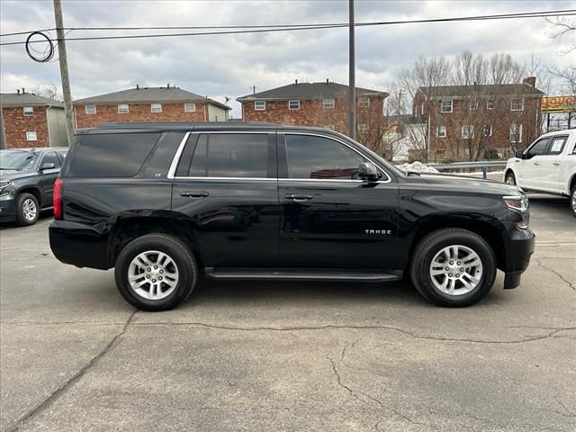
[[[79,130],[56,183],[50,246],[115,267],[121,295],[163,311],[213,279],[393,281],[466,306],[534,250],[517,186],[405,173],[330,130],[258,123]]]

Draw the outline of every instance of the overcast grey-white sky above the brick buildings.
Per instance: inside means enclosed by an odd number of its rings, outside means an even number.
[[[1,32],[54,27],[52,1],[0,0]],[[65,27],[343,23],[345,1],[83,1],[62,0]],[[356,22],[573,9],[576,1],[360,1]],[[157,31],[154,31],[157,32]],[[356,84],[385,91],[402,67],[424,55],[454,56],[464,49],[490,56],[509,52],[518,61],[534,54],[545,63],[573,64],[559,52],[574,43],[548,37],[542,18],[467,23],[401,24],[356,29]],[[90,36],[126,34],[91,31]],[[135,33],[135,32],[134,32]],[[139,31],[142,33],[142,31]],[[71,31],[69,37],[88,35]],[[52,36],[55,36],[52,32]],[[178,37],[88,40],[67,43],[72,97],[139,85],[177,85],[221,102],[301,82],[329,78],[347,84],[347,29]],[[3,38],[23,40],[25,36]],[[1,89],[58,85],[58,56],[36,63],[23,45],[2,47]]]

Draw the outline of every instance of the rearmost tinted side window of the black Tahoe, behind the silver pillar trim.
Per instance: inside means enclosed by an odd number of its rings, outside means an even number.
[[[159,133],[86,135],[76,149],[67,175],[82,177],[134,176],[139,172],[159,138]]]

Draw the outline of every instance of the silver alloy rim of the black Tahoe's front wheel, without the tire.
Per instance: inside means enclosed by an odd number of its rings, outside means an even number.
[[[482,260],[470,247],[442,248],[430,263],[432,284],[441,293],[458,296],[471,293],[482,280]]]

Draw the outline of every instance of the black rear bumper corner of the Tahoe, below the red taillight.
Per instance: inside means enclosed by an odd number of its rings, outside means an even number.
[[[88,225],[54,220],[49,226],[50,249],[58,261],[78,267],[107,270],[108,236]]]

